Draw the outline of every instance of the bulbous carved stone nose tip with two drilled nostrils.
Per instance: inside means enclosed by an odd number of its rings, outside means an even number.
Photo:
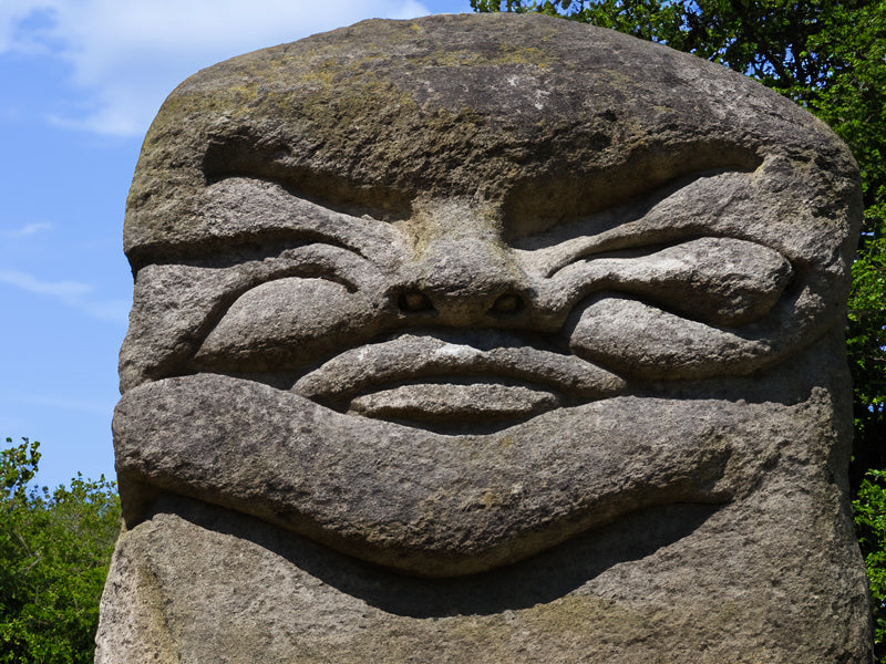
[[[528,303],[525,276],[498,243],[436,240],[416,271],[399,295],[404,313],[435,312],[441,322],[465,325],[516,315]]]

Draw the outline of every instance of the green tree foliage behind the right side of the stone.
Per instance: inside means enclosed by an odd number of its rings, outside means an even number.
[[[855,416],[849,479],[878,662],[886,664],[886,0],[471,0],[471,6],[481,12],[563,15],[719,62],[792,98],[848,144],[864,195],[846,332]]]

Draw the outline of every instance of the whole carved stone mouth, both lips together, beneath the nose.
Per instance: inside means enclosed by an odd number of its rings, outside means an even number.
[[[404,333],[358,346],[303,375],[292,392],[370,417],[445,421],[530,416],[615,396],[625,385],[575,355],[476,331]]]

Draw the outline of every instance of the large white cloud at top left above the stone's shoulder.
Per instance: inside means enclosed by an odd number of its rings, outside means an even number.
[[[70,63],[85,107],[54,122],[141,135],[204,66],[362,19],[426,13],[416,0],[0,0],[0,53],[41,50]]]

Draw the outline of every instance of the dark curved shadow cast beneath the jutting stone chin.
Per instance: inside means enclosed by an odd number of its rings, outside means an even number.
[[[544,604],[607,569],[639,560],[699,528],[720,506],[678,504],[635,512],[533,558],[480,574],[421,579],[338,553],[256,518],[166,495],[154,513],[249,540],[339,591],[388,613],[416,618],[490,615]]]

